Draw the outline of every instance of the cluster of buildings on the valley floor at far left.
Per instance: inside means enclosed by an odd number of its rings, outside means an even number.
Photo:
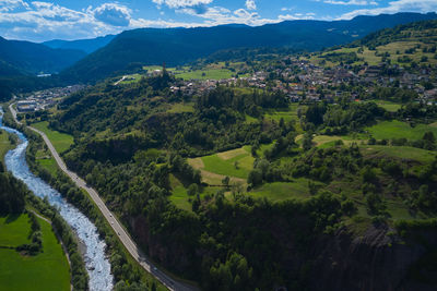
[[[85,88],[84,85],[72,85],[26,94],[21,96],[22,100],[16,102],[16,110],[19,112],[34,112],[44,110],[54,107],[63,97],[83,88]]]

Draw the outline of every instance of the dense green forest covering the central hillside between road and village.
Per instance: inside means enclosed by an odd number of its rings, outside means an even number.
[[[68,166],[96,187],[143,250],[169,270],[200,282],[205,290],[312,289],[318,288],[312,276],[327,264],[320,257],[323,248],[318,246],[334,244],[343,238],[341,233],[363,235],[363,230],[357,231],[363,226],[386,235],[388,229],[399,227],[405,238],[412,238],[411,233],[433,226],[432,220],[418,225],[394,221],[388,203],[402,197],[410,211],[432,219],[437,206],[437,159],[427,163],[374,159],[355,142],[339,140],[332,147],[318,148],[312,140],[316,134],[365,134],[367,126],[405,117],[415,122],[436,120],[435,106],[408,104],[411,96],[395,112],[346,98],[336,104],[307,102],[296,124],[264,117],[268,110],[290,106],[281,93],[218,86],[186,96],[169,90],[178,82],[164,73],[123,86],[103,83],[64,99],[57,116],[28,116],[29,120],[48,120],[52,129],[74,136],[75,144],[63,154]],[[401,99],[404,94],[409,96],[402,90]],[[375,96],[392,95],[379,90]],[[181,102],[189,104],[190,110],[170,110]],[[248,117],[253,121],[247,122]],[[305,131],[299,138],[297,126]],[[432,132],[420,140],[367,138],[363,143],[436,148]],[[255,158],[247,189],[224,186],[204,194],[208,185],[186,158],[244,145],[252,147]],[[271,146],[260,151],[265,145]],[[189,189],[192,211],[170,202],[172,177]],[[247,194],[265,183],[298,179],[308,181],[306,199],[271,202]],[[56,183],[62,189],[67,181]],[[72,201],[81,196],[73,190],[63,192]],[[369,218],[363,218],[363,211]],[[395,244],[402,237],[390,240]],[[352,239],[347,245],[353,247]],[[435,254],[435,250],[426,254]],[[332,259],[339,267],[326,271],[334,276],[344,262]],[[413,264],[418,258],[409,259]],[[420,264],[416,270],[427,267]],[[354,276],[361,271],[356,267]],[[400,283],[398,279],[374,279],[387,288]],[[362,278],[343,286],[367,284],[370,282]]]

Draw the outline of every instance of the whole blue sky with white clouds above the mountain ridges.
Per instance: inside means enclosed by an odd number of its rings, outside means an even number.
[[[0,36],[83,39],[140,27],[194,27],[286,20],[436,12],[437,0],[0,0]]]

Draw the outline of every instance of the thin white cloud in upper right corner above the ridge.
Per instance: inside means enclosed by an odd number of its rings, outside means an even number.
[[[388,3],[388,7],[375,9],[359,9],[347,12],[340,16],[340,20],[351,20],[358,15],[379,15],[382,13],[394,14],[398,12],[435,12],[437,11],[437,0],[397,0]]]

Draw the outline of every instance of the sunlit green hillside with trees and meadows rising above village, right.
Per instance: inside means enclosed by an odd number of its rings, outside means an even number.
[[[437,21],[416,22],[373,33],[310,58],[316,64],[399,65],[415,70],[437,64]]]

